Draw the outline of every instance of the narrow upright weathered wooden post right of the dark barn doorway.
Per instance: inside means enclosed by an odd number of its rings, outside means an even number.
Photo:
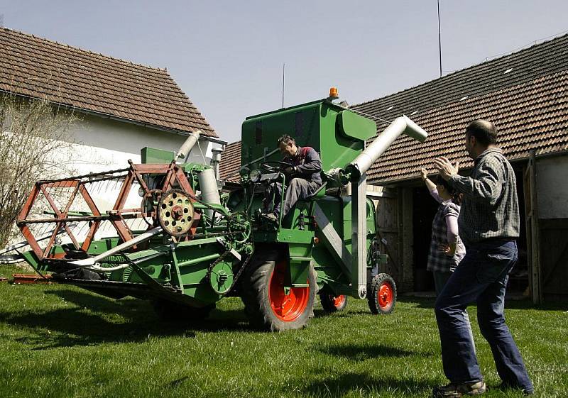
[[[535,151],[530,152],[524,173],[525,216],[527,231],[527,258],[529,286],[534,304],[542,303],[542,276],[540,272],[540,226],[538,222]]]

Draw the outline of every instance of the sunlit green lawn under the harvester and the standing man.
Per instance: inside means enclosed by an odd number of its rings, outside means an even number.
[[[0,397],[428,397],[445,382],[432,304],[399,297],[390,316],[372,316],[363,300],[333,315],[317,304],[302,331],[258,333],[235,298],[207,322],[176,326],[141,300],[1,282]],[[568,397],[567,309],[508,302],[537,397]],[[495,388],[476,324],[474,335],[485,396],[520,397]]]

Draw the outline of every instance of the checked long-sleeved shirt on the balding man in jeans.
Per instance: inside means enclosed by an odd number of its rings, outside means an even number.
[[[519,203],[513,167],[499,148],[489,148],[474,160],[471,177],[454,175],[449,184],[464,193],[459,236],[471,245],[488,238],[518,238]]]

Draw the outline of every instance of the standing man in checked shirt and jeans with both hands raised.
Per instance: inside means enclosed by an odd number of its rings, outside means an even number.
[[[449,184],[464,194],[459,235],[466,255],[436,300],[436,321],[442,343],[442,363],[449,385],[436,387],[434,397],[483,394],[484,377],[469,333],[466,307],[477,304],[481,334],[488,341],[501,387],[532,394],[523,358],[503,316],[505,289],[517,262],[519,206],[515,173],[496,146],[497,129],[476,120],[466,128],[466,150],[474,159],[471,177],[461,177],[445,157],[435,166]]]

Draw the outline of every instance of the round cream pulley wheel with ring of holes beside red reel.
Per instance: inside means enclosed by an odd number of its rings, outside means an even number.
[[[162,194],[158,203],[158,221],[165,233],[182,236],[193,224],[193,204],[181,189],[171,189]]]

